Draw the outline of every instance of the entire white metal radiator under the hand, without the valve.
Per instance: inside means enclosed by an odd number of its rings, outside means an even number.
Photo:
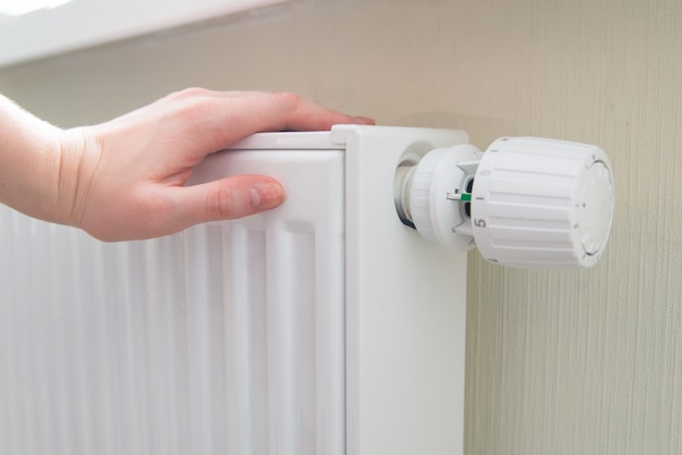
[[[466,255],[399,220],[395,169],[456,131],[261,134],[194,182],[283,206],[103,244],[0,210],[0,453],[460,454]]]

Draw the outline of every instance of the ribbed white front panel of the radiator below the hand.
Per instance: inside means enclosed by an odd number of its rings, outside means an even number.
[[[345,453],[342,153],[267,153],[284,206],[155,241],[0,207],[0,453]]]

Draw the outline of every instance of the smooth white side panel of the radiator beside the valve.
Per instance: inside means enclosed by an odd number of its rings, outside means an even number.
[[[466,254],[402,224],[405,157],[466,144],[458,131],[339,125],[346,144],[348,455],[464,451]]]

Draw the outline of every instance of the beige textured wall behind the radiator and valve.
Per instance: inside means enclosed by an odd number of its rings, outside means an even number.
[[[295,90],[480,147],[604,147],[618,196],[597,267],[471,256],[466,453],[682,452],[682,2],[300,0],[0,70],[0,90],[61,125],[192,85]]]

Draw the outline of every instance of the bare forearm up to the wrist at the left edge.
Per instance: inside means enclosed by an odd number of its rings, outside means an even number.
[[[68,222],[59,209],[61,131],[0,96],[0,202]]]

